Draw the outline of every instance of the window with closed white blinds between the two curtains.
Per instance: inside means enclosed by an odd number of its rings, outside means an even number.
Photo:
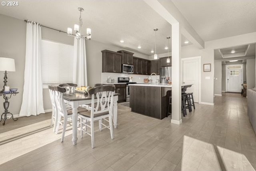
[[[43,85],[72,83],[74,46],[42,40]]]

